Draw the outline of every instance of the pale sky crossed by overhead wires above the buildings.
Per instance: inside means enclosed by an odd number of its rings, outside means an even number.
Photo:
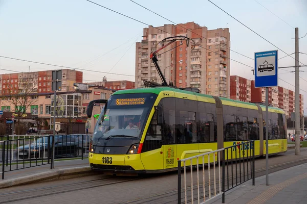
[[[105,7],[136,18],[147,24],[161,26],[171,22],[153,14],[129,0],[93,0]],[[231,49],[254,58],[255,52],[277,49],[235,21],[207,0],[156,0],[135,2],[176,22],[194,21],[208,30],[230,29]],[[212,0],[226,12],[246,24],[287,54],[295,52],[294,28],[299,36],[307,33],[307,1],[305,0]],[[273,12],[274,14],[272,14]],[[278,17],[277,17],[278,16]],[[281,19],[282,20],[281,20]],[[284,22],[286,21],[286,22]],[[135,42],[142,39],[146,25],[108,11],[85,0],[0,0],[0,55],[75,68],[99,70],[109,74],[84,71],[83,80],[130,80],[135,74]],[[292,28],[293,27],[293,28]],[[307,36],[299,41],[299,51],[307,54]],[[228,54],[229,55],[229,54]],[[279,58],[286,56],[281,50]],[[291,55],[295,57],[295,55]],[[231,52],[230,58],[254,67],[254,61]],[[307,55],[299,61],[307,65]],[[293,66],[291,57],[279,60],[279,67]],[[302,64],[301,64],[302,65]],[[15,71],[56,69],[48,65],[0,58],[0,68]],[[254,79],[251,68],[230,62],[230,74]],[[279,69],[279,78],[294,85],[294,68]],[[307,67],[301,67],[300,93],[307,107]],[[306,70],[306,72],[303,72]],[[0,70],[0,73],[12,73]],[[114,74],[115,73],[115,74]],[[89,81],[90,82],[90,81]],[[291,90],[281,80],[279,85]]]

